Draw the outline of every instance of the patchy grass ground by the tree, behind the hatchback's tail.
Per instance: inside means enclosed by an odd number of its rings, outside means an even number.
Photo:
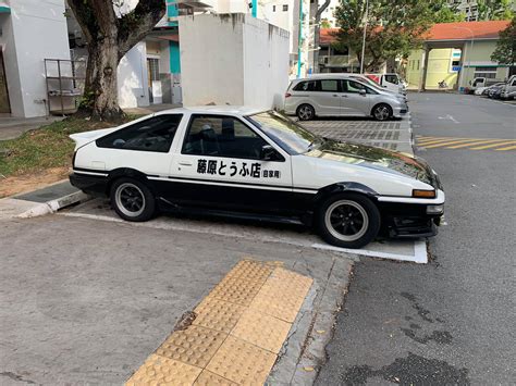
[[[136,117],[128,116],[127,121]],[[8,177],[69,166],[75,147],[69,135],[107,127],[113,127],[113,124],[71,116],[27,132],[16,139],[0,141],[0,175]]]

